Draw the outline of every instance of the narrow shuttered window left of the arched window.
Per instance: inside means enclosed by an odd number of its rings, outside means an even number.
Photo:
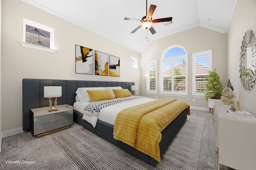
[[[147,61],[147,93],[157,94],[157,60]]]

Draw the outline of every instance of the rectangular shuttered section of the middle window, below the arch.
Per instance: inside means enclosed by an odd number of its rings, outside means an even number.
[[[187,55],[161,59],[161,94],[188,95]]]

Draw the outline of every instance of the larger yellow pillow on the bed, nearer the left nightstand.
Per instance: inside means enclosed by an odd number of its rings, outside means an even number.
[[[114,99],[109,89],[108,90],[87,90],[87,93],[92,102]]]

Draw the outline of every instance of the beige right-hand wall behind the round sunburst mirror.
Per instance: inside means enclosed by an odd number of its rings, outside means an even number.
[[[234,86],[234,92],[242,95],[245,109],[256,116],[256,85],[252,90],[244,91],[239,78],[240,47],[244,33],[248,29],[256,31],[256,1],[239,0],[236,11],[228,31],[228,78]]]

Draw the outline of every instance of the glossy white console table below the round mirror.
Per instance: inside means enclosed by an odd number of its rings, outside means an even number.
[[[256,168],[256,117],[230,115],[230,106],[214,102],[216,166],[220,164],[236,170]]]

